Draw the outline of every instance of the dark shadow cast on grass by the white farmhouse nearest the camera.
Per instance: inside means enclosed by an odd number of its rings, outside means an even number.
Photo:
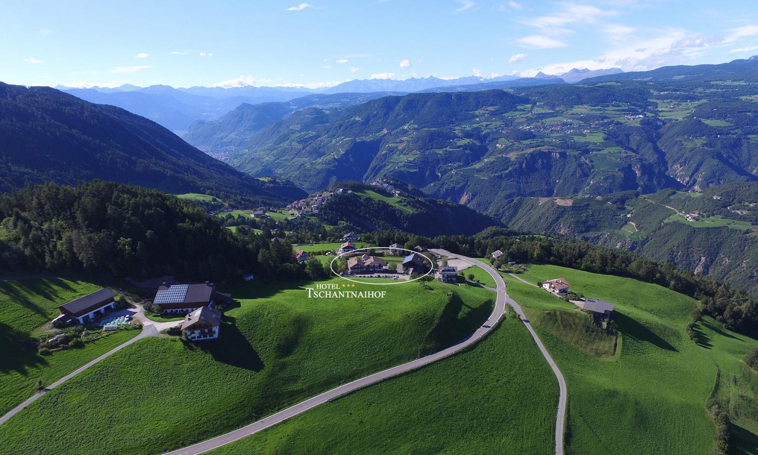
[[[263,360],[235,322],[235,318],[224,315],[218,339],[197,342],[183,340],[183,343],[190,350],[198,349],[210,354],[217,362],[254,372],[261,371],[264,367]]]

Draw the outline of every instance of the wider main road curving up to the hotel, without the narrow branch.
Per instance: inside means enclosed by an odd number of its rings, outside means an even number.
[[[167,452],[164,455],[196,455],[197,453],[207,452],[208,450],[213,450],[223,445],[230,444],[234,441],[245,438],[246,436],[254,435],[258,431],[265,430],[266,428],[276,425],[279,422],[290,419],[290,417],[304,413],[312,407],[326,403],[329,400],[334,400],[334,398],[340,397],[349,392],[356,391],[360,388],[365,388],[368,385],[376,384],[377,382],[384,381],[385,379],[392,378],[396,375],[401,375],[402,373],[421,368],[422,366],[426,366],[432,362],[437,362],[437,360],[444,359],[447,356],[452,356],[459,350],[465,349],[466,347],[469,347],[472,344],[478,342],[478,340],[481,340],[481,337],[484,337],[487,332],[492,330],[506,312],[507,295],[505,281],[503,281],[503,278],[500,277],[500,275],[495,270],[493,270],[493,268],[481,264],[481,262],[478,262],[475,259],[469,259],[465,256],[455,255],[442,249],[433,251],[435,253],[441,253],[450,257],[459,257],[460,259],[465,259],[471,263],[482,265],[482,268],[484,268],[484,270],[490,274],[493,280],[498,283],[496,290],[497,297],[495,300],[495,308],[493,309],[492,314],[489,318],[487,318],[487,321],[485,321],[484,324],[482,324],[473,334],[471,334],[471,336],[467,337],[465,340],[462,340],[458,344],[454,344],[453,346],[440,350],[437,353],[421,357],[421,359],[412,360],[411,362],[403,363],[399,366],[393,366],[390,369],[386,369],[384,371],[374,373],[373,375],[368,375],[363,378],[356,379],[355,381],[348,382],[347,384],[342,384],[339,387],[331,389],[330,391],[325,391],[323,394],[316,395],[315,397],[297,403],[293,406],[288,407],[287,409],[283,409],[278,413],[271,414],[271,416],[265,417],[264,419],[252,422],[251,424],[243,426],[242,428],[237,428],[236,430],[229,431],[224,435],[216,436],[215,438],[211,438],[206,441],[184,447],[182,449]]]

